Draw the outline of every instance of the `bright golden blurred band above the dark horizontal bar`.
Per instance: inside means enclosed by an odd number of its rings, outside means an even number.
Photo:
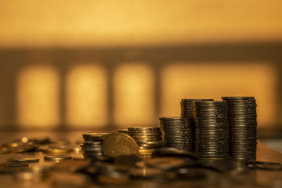
[[[282,39],[281,0],[0,1],[0,45]]]

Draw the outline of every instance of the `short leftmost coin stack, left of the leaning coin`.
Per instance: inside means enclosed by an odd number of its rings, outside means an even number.
[[[82,134],[85,142],[80,144],[82,153],[85,158],[96,158],[97,156],[103,156],[102,144],[106,136],[110,133],[97,133],[97,132],[85,132]]]

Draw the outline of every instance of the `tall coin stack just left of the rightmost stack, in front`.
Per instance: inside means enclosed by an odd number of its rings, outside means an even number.
[[[195,151],[199,158],[228,157],[225,101],[195,101]]]

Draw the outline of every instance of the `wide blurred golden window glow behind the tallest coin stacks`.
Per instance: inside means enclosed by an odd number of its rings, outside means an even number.
[[[179,115],[182,98],[255,96],[259,126],[275,122],[276,74],[264,63],[168,65],[161,73],[161,114]]]

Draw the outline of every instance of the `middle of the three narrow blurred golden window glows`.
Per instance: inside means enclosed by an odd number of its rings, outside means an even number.
[[[66,120],[73,127],[107,123],[106,71],[99,65],[75,66],[66,78]]]

